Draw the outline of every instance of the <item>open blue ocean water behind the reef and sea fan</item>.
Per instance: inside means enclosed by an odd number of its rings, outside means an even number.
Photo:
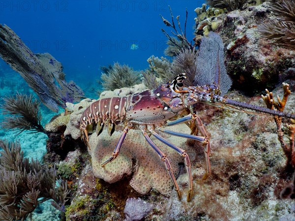
[[[12,28],[32,52],[53,55],[63,64],[66,80],[73,80],[86,96],[96,98],[100,66],[119,62],[135,70],[146,69],[149,56],[165,56],[167,38],[161,28],[172,30],[163,24],[160,14],[171,21],[170,5],[184,28],[187,9],[186,35],[192,39],[194,9],[202,3],[204,0],[1,0],[0,24]],[[132,44],[138,48],[131,50]],[[0,98],[17,92],[34,94],[2,59],[0,80]],[[44,105],[41,113],[43,125],[56,114]],[[3,114],[0,120],[4,120]],[[16,134],[0,130],[1,138],[20,140],[26,157],[42,158],[45,135]]]

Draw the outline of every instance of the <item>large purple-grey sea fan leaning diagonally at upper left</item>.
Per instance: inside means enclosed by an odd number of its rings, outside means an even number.
[[[0,25],[0,57],[25,79],[52,111],[77,102],[84,93],[74,82],[64,80],[62,65],[52,55],[34,54],[8,26]]]

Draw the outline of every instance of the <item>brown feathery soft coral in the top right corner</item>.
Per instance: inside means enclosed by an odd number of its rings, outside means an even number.
[[[294,50],[295,0],[268,0],[266,7],[278,17],[278,21],[261,24],[259,31],[273,40],[272,44]]]

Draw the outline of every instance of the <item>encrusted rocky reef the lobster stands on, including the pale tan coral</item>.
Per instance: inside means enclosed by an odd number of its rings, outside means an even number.
[[[294,109],[295,81],[287,83],[293,91],[285,107],[288,112]],[[143,89],[137,85],[103,92],[101,97],[125,96]],[[282,97],[281,85],[273,93]],[[265,106],[260,96],[245,97],[234,90],[228,97]],[[187,150],[192,163],[193,197],[186,202],[188,177],[182,157],[160,146],[177,177],[182,193],[179,200],[163,162],[138,131],[128,133],[114,162],[100,167],[111,156],[120,133],[109,137],[105,130],[97,137],[94,132],[89,137],[91,149],[86,148],[80,139],[79,118],[91,102],[68,103],[70,114],[61,114],[45,127],[51,132],[45,159],[58,167],[72,190],[72,200],[65,207],[67,220],[294,220],[294,200],[279,197],[292,173],[285,166],[271,116],[198,105],[197,113],[211,135],[211,175],[202,179],[206,172],[202,145],[173,138]],[[174,130],[189,133],[186,125]],[[54,144],[57,140],[63,143],[59,149]]]

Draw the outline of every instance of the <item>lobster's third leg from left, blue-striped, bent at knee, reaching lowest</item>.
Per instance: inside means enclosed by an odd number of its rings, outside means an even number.
[[[189,202],[191,200],[192,192],[193,192],[193,178],[192,178],[191,164],[190,164],[190,160],[189,160],[188,154],[186,153],[185,150],[177,147],[173,143],[169,142],[167,139],[162,138],[160,135],[158,135],[153,130],[151,130],[151,134],[153,136],[155,136],[155,138],[157,138],[158,140],[162,141],[166,145],[168,145],[171,148],[173,148],[174,150],[176,150],[177,153],[179,153],[182,157],[184,157],[184,165],[185,165],[185,168],[186,168],[186,172],[188,174],[188,194],[187,194],[186,200],[187,200],[187,202]]]

